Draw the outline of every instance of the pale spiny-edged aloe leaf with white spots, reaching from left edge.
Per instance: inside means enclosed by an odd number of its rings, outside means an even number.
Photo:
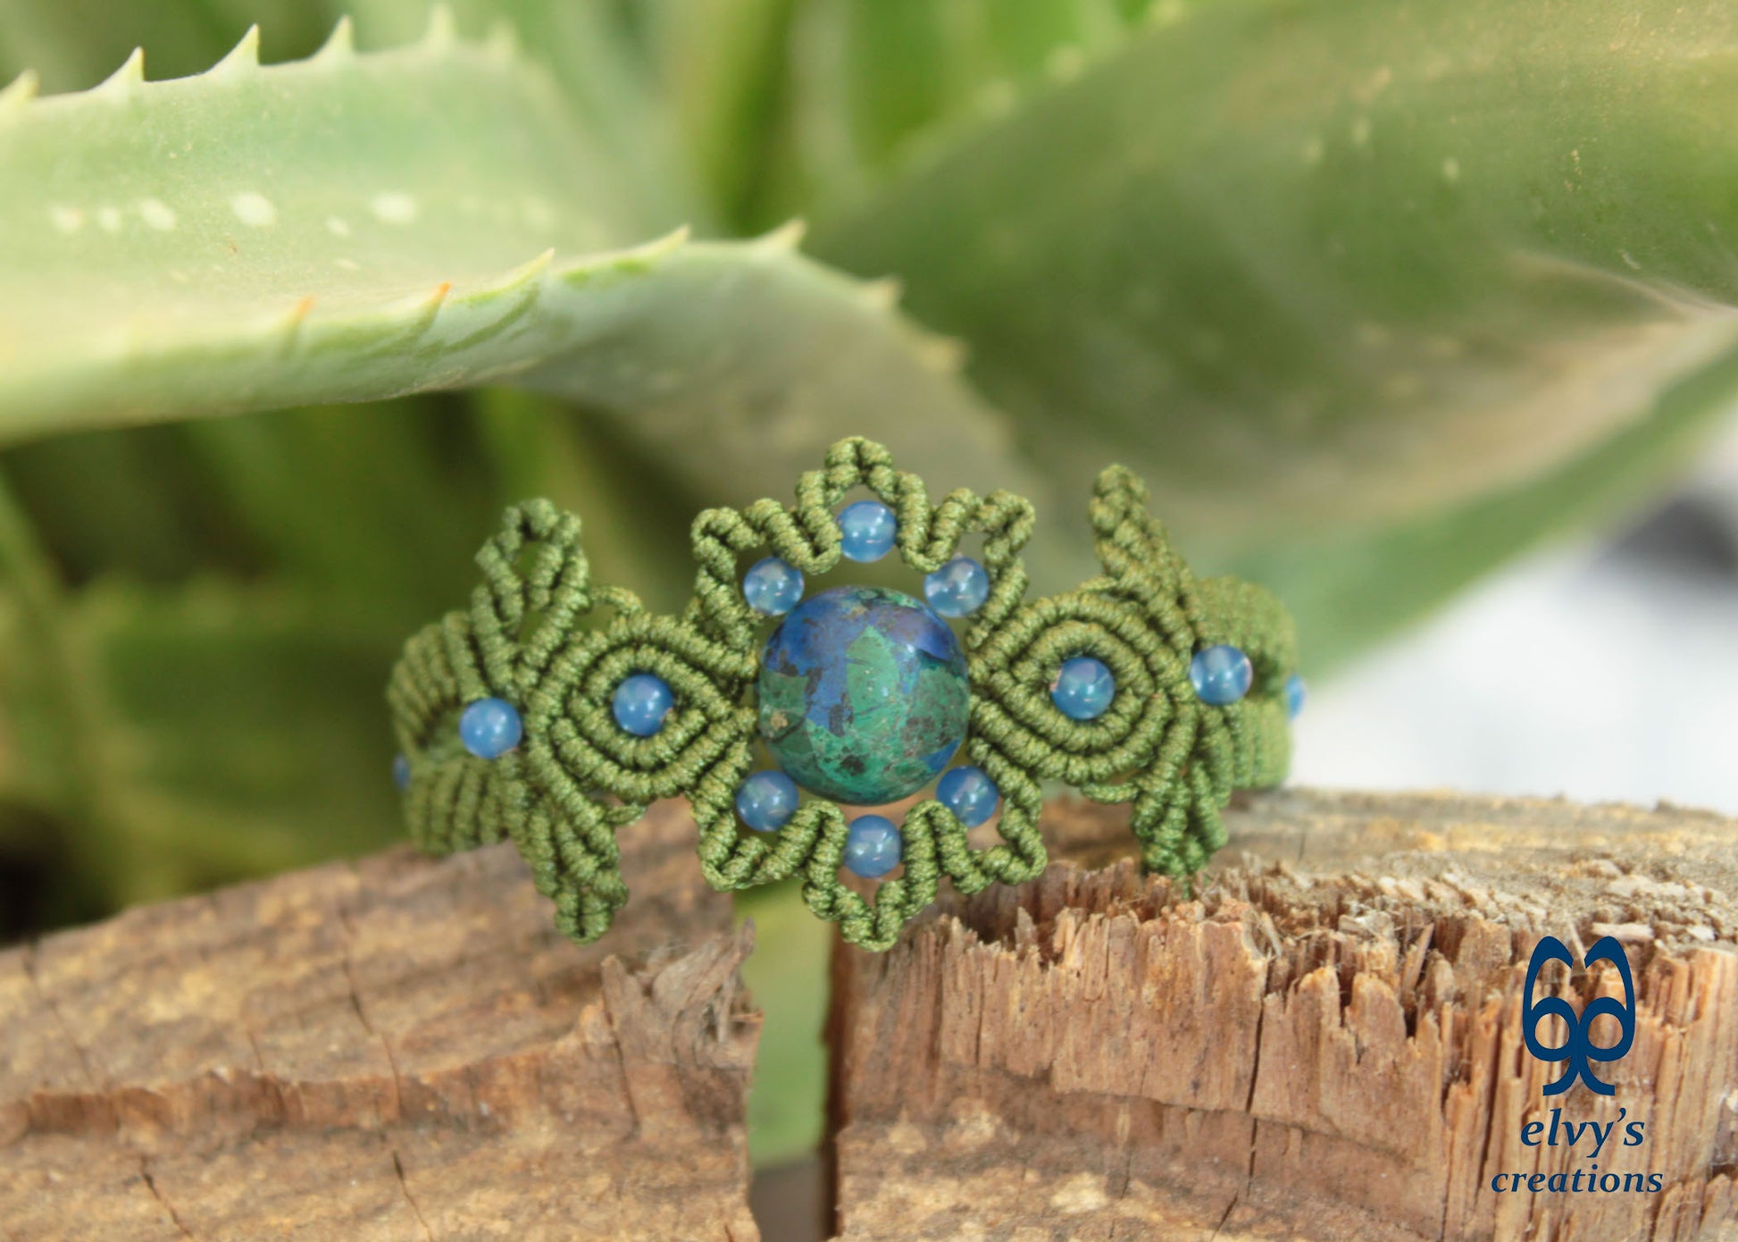
[[[198,78],[129,70],[10,113],[0,438],[514,381],[619,419],[718,499],[787,491],[841,428],[965,482],[1031,480],[945,343],[796,231],[603,250],[634,207],[499,47],[436,28],[262,70],[243,43]]]

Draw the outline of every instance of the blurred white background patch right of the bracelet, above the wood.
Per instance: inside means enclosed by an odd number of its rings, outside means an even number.
[[[1627,532],[1535,555],[1314,684],[1291,779],[1738,814],[1738,428]]]

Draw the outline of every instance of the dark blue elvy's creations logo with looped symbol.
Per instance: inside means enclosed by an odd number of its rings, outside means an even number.
[[[1630,1047],[1635,1044],[1635,979],[1630,976],[1629,957],[1623,953],[1623,946],[1613,936],[1601,938],[1582,960],[1582,965],[1592,967],[1594,962],[1609,962],[1616,967],[1618,978],[1623,981],[1623,998],[1616,997],[1595,997],[1582,1005],[1582,1012],[1575,1012],[1571,1005],[1562,997],[1556,995],[1536,995],[1538,976],[1549,962],[1562,962],[1562,965],[1573,972],[1575,955],[1569,946],[1564,945],[1556,936],[1545,936],[1533,948],[1533,957],[1526,967],[1526,986],[1521,992],[1521,1033],[1526,1038],[1526,1051],[1531,1052],[1540,1061],[1562,1061],[1562,1075],[1547,1082],[1542,1094],[1561,1096],[1576,1080],[1585,1082],[1587,1089],[1595,1096],[1613,1096],[1616,1089],[1601,1078],[1594,1063],[1618,1061],[1629,1054]],[[1545,1044],[1538,1037],[1538,1028],[1545,1019],[1556,1018],[1562,1023],[1564,1037],[1561,1044]],[[1594,1042],[1594,1021],[1599,1018],[1611,1018],[1618,1025],[1618,1038],[1613,1044],[1595,1044]],[[1611,1138],[1611,1131],[1629,1117],[1629,1108],[1620,1108],[1615,1120],[1609,1122],[1573,1122],[1562,1118],[1562,1108],[1550,1110],[1550,1125],[1547,1129],[1545,1122],[1533,1120],[1521,1127],[1521,1143],[1524,1146],[1568,1146],[1575,1155],[1576,1145],[1587,1139],[1592,1150],[1585,1153],[1585,1159],[1592,1160],[1587,1169],[1576,1169],[1569,1172],[1498,1172],[1491,1178],[1491,1190],[1503,1193],[1509,1190],[1529,1190],[1533,1193],[1575,1193],[1575,1192],[1648,1192],[1658,1193],[1665,1188],[1665,1179],[1658,1172],[1599,1172],[1599,1153],[1604,1150],[1606,1141]],[[1641,1146],[1646,1141],[1646,1122],[1627,1122],[1623,1124],[1623,1146]]]

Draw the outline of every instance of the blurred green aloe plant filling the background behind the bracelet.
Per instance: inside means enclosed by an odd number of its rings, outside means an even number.
[[[0,0],[0,927],[395,840],[386,670],[530,494],[673,604],[695,508],[869,433],[1032,496],[1050,588],[1119,459],[1331,668],[1728,407],[1735,23]],[[826,941],[754,915],[779,1159]]]

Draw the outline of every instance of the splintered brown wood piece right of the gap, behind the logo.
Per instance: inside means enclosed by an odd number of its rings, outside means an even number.
[[[1227,825],[1191,899],[1135,871],[1116,811],[1051,804],[1045,877],[836,952],[846,1242],[1738,1237],[1738,825],[1309,791]],[[1521,993],[1543,934],[1627,946],[1611,1098],[1542,1096],[1561,1066],[1524,1051]],[[1609,967],[1569,985],[1620,993]],[[1522,1145],[1554,1106],[1627,1110],[1644,1141]],[[1491,1192],[1594,1164],[1662,1190]]]

